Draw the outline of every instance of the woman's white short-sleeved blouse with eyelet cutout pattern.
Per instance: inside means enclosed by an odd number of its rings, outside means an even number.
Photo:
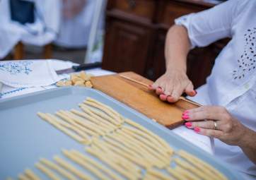
[[[175,23],[187,28],[191,48],[205,47],[223,37],[232,38],[216,58],[206,84],[198,89],[197,96],[190,98],[201,104],[226,107],[242,124],[256,131],[256,1],[226,1],[182,16]],[[238,146],[215,139],[215,155],[245,179],[256,178],[256,165]]]

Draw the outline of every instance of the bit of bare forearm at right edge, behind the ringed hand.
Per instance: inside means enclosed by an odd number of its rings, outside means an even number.
[[[246,128],[244,136],[239,142],[240,148],[245,155],[256,164],[256,132]]]

